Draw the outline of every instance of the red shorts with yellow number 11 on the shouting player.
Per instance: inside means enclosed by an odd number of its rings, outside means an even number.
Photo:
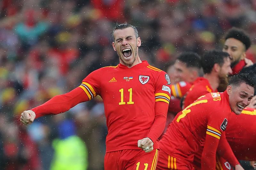
[[[104,158],[105,170],[155,170],[158,149],[146,153],[143,150],[121,150],[115,152],[107,152]]]

